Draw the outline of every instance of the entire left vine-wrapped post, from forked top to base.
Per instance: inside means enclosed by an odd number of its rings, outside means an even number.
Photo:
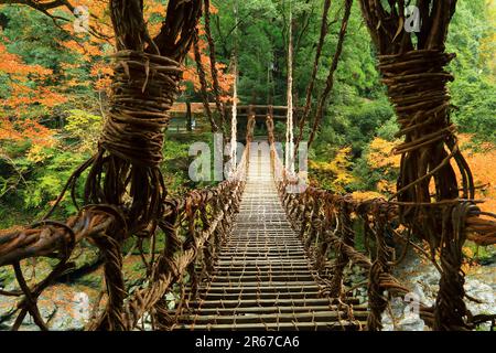
[[[165,21],[153,39],[144,22],[143,1],[111,0],[110,17],[117,52],[109,111],[98,151],[84,164],[89,168],[84,199],[88,204],[115,205],[123,213],[127,234],[120,227],[106,236],[118,242],[136,235],[154,242],[166,196],[160,164],[168,110],[179,90],[181,63],[190,50],[201,3],[169,1]],[[112,293],[119,277],[110,272],[106,270],[105,279]],[[115,314],[100,319],[96,329],[130,328],[122,319],[122,296],[109,297],[107,308]]]

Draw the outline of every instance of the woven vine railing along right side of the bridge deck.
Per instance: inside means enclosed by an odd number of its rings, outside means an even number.
[[[388,306],[388,297],[405,297],[410,292],[406,285],[392,276],[393,266],[399,263],[395,257],[395,242],[407,243],[403,252],[411,244],[411,229],[400,222],[400,205],[385,199],[357,200],[351,194],[337,195],[313,186],[306,186],[303,192],[294,192],[299,185],[299,176],[287,171],[279,158],[274,145],[273,119],[270,115],[267,118],[267,128],[271,146],[271,167],[283,208],[313,259],[315,269],[322,275],[321,280],[326,284],[325,293],[332,298],[344,299],[345,267],[349,264],[360,267],[368,272],[367,329],[380,330],[381,314]],[[455,204],[446,203],[444,212],[452,216],[459,234],[465,234],[467,239],[479,245],[496,244],[496,222],[489,218],[493,215],[481,212],[474,202],[461,200]],[[459,216],[460,212],[463,212],[463,217]],[[358,250],[355,246],[356,224],[362,225],[363,243],[368,245],[368,249],[374,247],[371,254]],[[331,252],[335,253],[335,261],[331,279],[326,280],[324,268]],[[433,257],[429,259],[435,263]],[[436,267],[441,269],[439,265]],[[457,293],[452,293],[452,297],[456,300]],[[459,300],[463,300],[463,297]],[[419,308],[419,314],[424,322],[431,328],[434,327],[434,307],[420,303]],[[467,328],[473,329],[476,320],[470,312],[465,319]]]

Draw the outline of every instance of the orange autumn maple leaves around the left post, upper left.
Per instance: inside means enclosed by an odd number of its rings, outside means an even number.
[[[78,87],[91,86],[100,96],[108,96],[111,84],[111,63],[106,58],[114,51],[114,31],[108,14],[108,1],[106,0],[79,0],[79,1],[10,1],[20,3],[42,11],[54,19],[60,31],[65,31],[69,35],[64,40],[54,38],[54,41],[74,56],[74,62],[65,62],[56,77],[51,68],[42,65],[26,64],[23,58],[10,53],[8,46],[0,43],[0,74],[7,75],[9,79],[9,92],[2,97],[0,106],[0,139],[25,140],[30,139],[37,145],[42,140],[47,143],[47,137],[53,137],[53,131],[39,124],[42,116],[50,115],[53,108],[79,99],[73,96],[72,90]],[[85,7],[89,14],[88,26],[90,33],[75,31],[74,14],[77,7]],[[145,4],[145,21],[150,24],[150,34],[157,35],[160,31],[161,21],[164,19],[165,6],[162,1],[153,0]],[[211,6],[211,12],[217,13],[217,9]],[[201,34],[204,34],[200,24]],[[2,42],[9,40],[2,36]],[[207,43],[200,40],[202,52],[202,64],[208,71],[211,66],[207,54]],[[193,53],[188,56],[192,64],[184,67],[183,89],[191,83],[196,90],[200,90],[200,82],[195,65],[193,64]],[[89,65],[89,75],[82,76],[77,71],[83,65]],[[233,85],[233,75],[225,74],[226,65],[216,63],[218,82],[222,90],[220,99],[229,99],[229,90]],[[56,78],[56,79],[54,79]],[[51,81],[51,83],[48,83]],[[33,84],[35,86],[33,87]],[[208,76],[208,88],[212,89],[212,76]],[[21,121],[26,119],[25,121]]]

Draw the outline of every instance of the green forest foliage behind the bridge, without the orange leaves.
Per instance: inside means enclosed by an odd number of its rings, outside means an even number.
[[[241,104],[285,105],[287,44],[289,4],[293,12],[294,33],[294,98],[303,106],[305,89],[312,72],[315,45],[320,35],[323,0],[250,0],[237,1],[239,25],[235,28],[233,1],[216,0],[218,14],[213,15],[213,34],[217,43],[217,60],[229,64],[237,36],[239,86]],[[494,8],[494,7],[493,7]],[[2,223],[19,223],[44,213],[63,189],[72,171],[95,151],[105,110],[105,94],[96,94],[91,84],[91,67],[101,57],[82,60],[77,51],[68,50],[64,42],[72,40],[45,15],[25,7],[3,6],[0,9],[9,21],[2,30],[8,40],[9,53],[19,55],[29,65],[41,65],[53,72],[48,84],[63,88],[68,101],[48,111],[42,105],[19,111],[21,119],[37,118],[55,130],[57,143],[33,151],[30,141],[4,142],[0,158],[0,218]],[[449,69],[455,81],[450,85],[453,120],[460,130],[475,133],[476,139],[496,141],[496,87],[495,87],[495,25],[494,9],[488,10],[484,0],[459,1],[450,26],[448,51],[456,58]],[[333,2],[330,13],[330,34],[323,49],[312,101],[319,98],[327,77],[339,31],[342,7]],[[150,21],[161,19],[154,15]],[[91,62],[93,61],[93,62]],[[375,138],[393,141],[398,125],[385,88],[379,83],[376,53],[370,43],[359,4],[354,3],[348,33],[338,64],[332,92],[317,139],[310,158],[321,167],[330,167],[339,160],[343,147],[349,147],[346,165],[313,178],[334,190],[376,190],[385,179],[384,170],[370,168],[370,145]],[[192,64],[191,62],[187,64]],[[77,77],[78,85],[67,84]],[[6,97],[11,82],[0,73],[0,96]],[[30,82],[33,87],[35,82]],[[64,85],[63,85],[64,84]],[[183,97],[200,100],[188,86]],[[311,114],[313,117],[314,113]],[[304,137],[312,121],[304,127]],[[263,129],[259,131],[263,133]],[[276,136],[285,140],[285,125],[276,122]],[[162,172],[171,195],[191,188],[208,186],[213,182],[195,183],[187,175],[192,158],[190,145],[205,141],[213,146],[212,135],[168,133],[164,143]],[[213,167],[212,167],[213,168]],[[325,170],[325,168],[323,168]],[[321,168],[322,169],[322,168]],[[331,182],[336,174],[353,178],[339,183]],[[330,176],[331,175],[331,176]],[[393,182],[388,174],[387,181]],[[82,194],[78,185],[77,194]],[[74,212],[66,196],[61,204],[61,216]],[[3,224],[2,224],[3,225]]]

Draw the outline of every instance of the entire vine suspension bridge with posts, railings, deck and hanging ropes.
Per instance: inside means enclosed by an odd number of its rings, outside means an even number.
[[[117,45],[98,150],[74,171],[43,220],[0,231],[0,267],[11,267],[18,284],[14,290],[0,289],[0,296],[18,299],[11,313],[15,318],[12,330],[19,330],[28,317],[41,330],[50,330],[39,299],[75,269],[74,257],[83,242],[98,248],[104,272],[87,330],[138,330],[149,318],[152,330],[378,331],[389,299],[410,292],[393,277],[393,269],[409,246],[416,246],[413,239],[429,245],[430,254],[420,247],[419,252],[441,272],[435,302],[419,303],[425,324],[434,330],[474,330],[487,321],[494,325],[495,315],[473,315],[464,302],[462,247],[467,239],[477,245],[496,244],[496,216],[481,210],[482,202],[475,199],[472,173],[449,117],[446,83],[453,76],[444,66],[453,55],[444,52],[444,42],[454,0],[421,1],[429,19],[414,41],[411,33],[398,31],[405,22],[398,14],[401,11],[388,12],[377,0],[359,1],[378,51],[382,83],[398,116],[399,136],[405,137],[395,149],[401,154],[401,168],[398,191],[390,200],[358,200],[314,186],[300,190],[301,175],[287,169],[289,154],[284,163],[279,157],[273,121],[281,115],[270,106],[262,113],[245,110],[245,152],[227,180],[170,197],[160,170],[164,128],[180,89],[185,55],[192,46],[198,54],[202,11],[219,126],[205,94],[203,103],[213,132],[228,125],[216,83],[209,1],[170,0],[154,39],[147,29],[143,1],[109,2]],[[392,9],[405,6],[401,1],[389,3]],[[321,50],[330,1],[325,4]],[[47,11],[39,2],[34,8]],[[352,1],[345,0],[336,53],[309,143],[322,120],[325,95],[332,90],[351,8]],[[289,30],[291,39],[291,25]],[[291,47],[291,40],[289,43]],[[205,93],[201,65],[198,77]],[[291,75],[288,86],[292,87]],[[312,86],[298,139],[292,136],[289,89],[287,142],[301,141]],[[251,148],[257,118],[265,119],[268,131],[261,154]],[[231,125],[236,127],[236,122]],[[236,138],[234,129],[231,139]],[[77,186],[83,175],[84,205],[79,205]],[[78,211],[68,220],[54,221],[54,210],[66,193]],[[122,265],[128,240],[139,250],[145,268],[133,288],[126,284]],[[365,244],[365,249],[358,243]],[[397,254],[395,247],[401,252]],[[26,279],[21,263],[40,257],[51,258],[55,265],[45,278],[33,282]],[[346,271],[352,265],[367,278],[360,284],[367,291],[365,303],[352,296]],[[172,292],[181,297],[174,306],[168,299]]]

